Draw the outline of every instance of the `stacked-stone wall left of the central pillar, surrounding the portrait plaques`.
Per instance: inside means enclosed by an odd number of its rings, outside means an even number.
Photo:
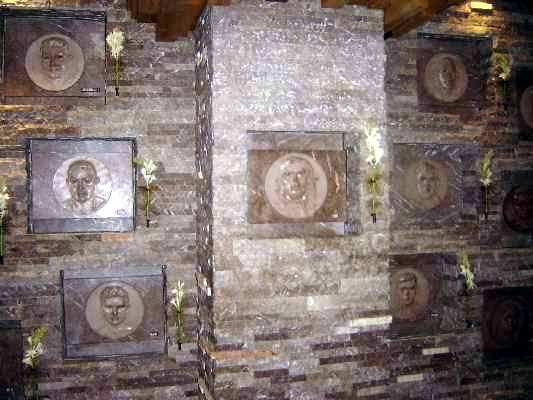
[[[47,3],[14,5],[46,7]],[[0,175],[7,177],[12,196],[7,255],[0,268],[0,319],[21,320],[24,335],[38,326],[49,328],[39,385],[54,400],[196,398],[194,41],[156,42],[155,27],[130,20],[122,1],[53,1],[52,6],[105,10],[108,31],[119,27],[125,32],[120,96],[110,86],[106,105],[95,101],[88,106],[0,106]],[[111,72],[107,79],[113,82]],[[27,234],[24,146],[28,137],[136,138],[138,154],[155,160],[159,168],[150,228],[145,227],[139,189],[135,232]],[[168,355],[62,360],[61,269],[161,264],[168,266],[170,281],[185,282],[187,340],[182,351],[174,343],[174,314],[169,309]]]

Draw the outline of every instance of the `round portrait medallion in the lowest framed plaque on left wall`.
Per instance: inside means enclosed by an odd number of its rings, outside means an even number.
[[[143,317],[144,303],[139,292],[120,281],[98,286],[85,306],[85,318],[91,329],[110,339],[133,334]]]

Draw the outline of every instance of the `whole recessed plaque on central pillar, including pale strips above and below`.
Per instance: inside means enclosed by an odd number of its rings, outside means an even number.
[[[247,219],[256,235],[331,236],[357,230],[357,185],[352,185],[357,152],[347,136],[249,133]]]

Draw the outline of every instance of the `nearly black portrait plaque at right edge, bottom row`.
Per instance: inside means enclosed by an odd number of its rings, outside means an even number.
[[[533,356],[533,287],[483,292],[483,351],[487,361]]]

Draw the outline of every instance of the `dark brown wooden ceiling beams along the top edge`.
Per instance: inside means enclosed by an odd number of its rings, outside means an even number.
[[[363,5],[383,9],[385,37],[397,37],[424,23],[447,7],[464,1],[321,0],[321,4],[324,8]],[[157,24],[158,40],[173,41],[180,36],[187,36],[194,29],[198,17],[207,5],[227,6],[230,4],[231,0],[128,0],[128,9],[137,21]]]

